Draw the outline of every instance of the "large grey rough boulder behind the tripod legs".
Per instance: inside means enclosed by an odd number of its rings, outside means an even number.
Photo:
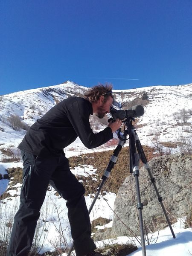
[[[169,220],[174,223],[177,218],[186,216],[192,207],[192,157],[183,154],[155,157],[149,165]],[[167,221],[144,167],[140,169],[139,183],[145,233],[163,229]],[[136,205],[135,177],[129,175],[116,196],[113,236],[140,235]]]

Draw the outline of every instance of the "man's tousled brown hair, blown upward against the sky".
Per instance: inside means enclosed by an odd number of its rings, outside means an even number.
[[[113,85],[109,83],[98,84],[96,86],[91,87],[87,93],[84,94],[84,98],[89,102],[97,102],[100,96],[104,96],[104,100],[108,99],[109,96],[113,98],[112,95]],[[105,95],[106,94],[106,95]]]

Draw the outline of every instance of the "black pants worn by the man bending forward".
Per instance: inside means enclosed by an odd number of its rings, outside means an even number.
[[[96,249],[90,237],[90,218],[84,199],[84,186],[70,172],[64,156],[42,158],[21,151],[23,157],[23,186],[20,207],[12,227],[7,256],[27,256],[35,227],[50,183],[67,200],[68,218],[77,256]]]

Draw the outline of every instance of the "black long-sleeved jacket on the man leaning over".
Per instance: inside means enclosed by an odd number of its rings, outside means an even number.
[[[59,102],[29,128],[18,146],[37,156],[60,156],[79,136],[87,148],[96,148],[113,138],[110,127],[94,134],[89,117],[93,108],[89,101],[70,97]]]

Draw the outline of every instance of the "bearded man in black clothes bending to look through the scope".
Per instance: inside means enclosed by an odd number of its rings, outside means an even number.
[[[95,253],[90,218],[84,199],[84,187],[70,172],[63,149],[79,136],[87,148],[96,148],[113,138],[122,121],[116,119],[97,134],[89,117],[103,118],[113,103],[111,85],[97,85],[85,95],[64,99],[38,119],[27,131],[18,148],[23,158],[23,186],[20,207],[15,215],[7,256],[27,256],[48,184],[67,203],[72,238],[77,256]]]

